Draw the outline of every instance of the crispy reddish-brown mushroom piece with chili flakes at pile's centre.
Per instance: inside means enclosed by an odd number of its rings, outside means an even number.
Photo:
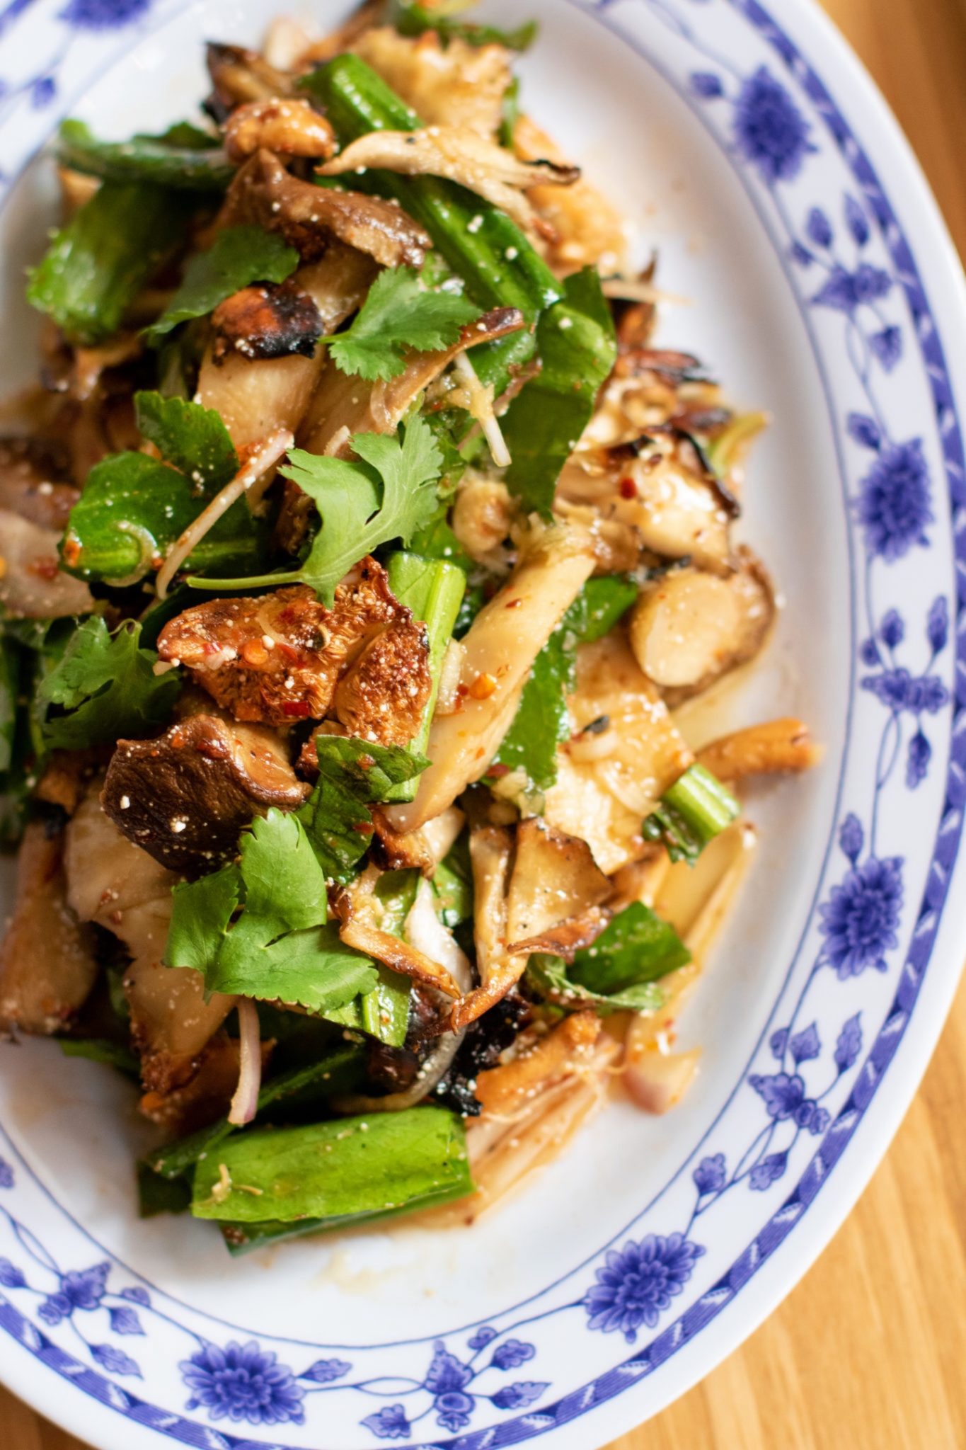
[[[408,631],[411,613],[392,596],[388,576],[374,558],[364,558],[336,589],[332,609],[304,584],[278,589],[259,599],[217,599],[187,609],[161,631],[158,654],[187,666],[194,680],[239,721],[288,725],[322,719],[332,706],[340,677],[387,628]],[[408,641],[407,664],[421,679],[426,647]],[[345,708],[365,706],[369,724],[381,719],[375,689],[385,686],[379,657],[366,684],[364,663],[348,686]],[[391,682],[392,697],[400,682]],[[417,695],[421,687],[417,689]],[[359,713],[361,718],[361,713]]]

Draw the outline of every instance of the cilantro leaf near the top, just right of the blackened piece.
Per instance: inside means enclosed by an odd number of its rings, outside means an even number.
[[[406,368],[404,348],[446,348],[478,316],[479,309],[459,293],[427,290],[411,267],[387,267],[352,326],[330,339],[329,351],[342,373],[356,373],[369,383],[398,377]]]

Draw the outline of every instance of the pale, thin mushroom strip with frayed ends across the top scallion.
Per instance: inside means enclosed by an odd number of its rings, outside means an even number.
[[[526,193],[530,187],[574,186],[581,168],[555,161],[520,161],[511,151],[459,126],[427,126],[423,130],[371,130],[350,142],[324,167],[322,175],[337,177],[359,167],[398,171],[403,175],[446,177],[498,206],[518,226],[533,229],[536,215]]]

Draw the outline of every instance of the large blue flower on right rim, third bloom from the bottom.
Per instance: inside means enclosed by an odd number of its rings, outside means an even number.
[[[885,972],[885,953],[898,942],[902,908],[902,858],[870,856],[854,866],[828,902],[818,908],[826,960],[840,982],[866,967]]]

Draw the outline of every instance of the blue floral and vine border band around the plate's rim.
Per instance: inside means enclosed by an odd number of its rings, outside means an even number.
[[[14,113],[17,119],[42,110],[54,115],[72,46],[97,41],[109,46],[107,61],[146,20],[174,13],[178,3],[9,0],[0,7],[0,39],[39,13],[49,22],[45,35],[58,36],[55,49],[29,75],[0,84],[0,138],[10,142],[0,161],[9,175],[49,130],[51,119],[20,126],[16,142],[9,122]],[[659,1198],[646,1215],[655,1231],[621,1234],[601,1248],[587,1269],[569,1276],[576,1280],[575,1292],[562,1280],[549,1308],[537,1305],[523,1315],[507,1311],[495,1322],[404,1346],[414,1373],[401,1373],[401,1360],[397,1364],[388,1348],[345,1351],[350,1359],[326,1348],[323,1357],[306,1351],[300,1359],[294,1341],[269,1346],[268,1337],[242,1331],[232,1337],[214,1322],[203,1334],[159,1290],[127,1283],[123,1266],[112,1260],[91,1254],[88,1262],[62,1267],[10,1206],[20,1173],[12,1147],[13,1161],[0,1159],[6,1248],[0,1327],[52,1372],[159,1436],[242,1450],[268,1441],[239,1440],[232,1425],[245,1433],[288,1427],[293,1434],[306,1427],[314,1434],[327,1422],[316,1406],[346,1402],[355,1406],[355,1425],[368,1436],[364,1443],[416,1444],[413,1437],[429,1433],[456,1436],[445,1443],[459,1450],[490,1450],[553,1430],[655,1373],[734,1299],[820,1192],[895,1053],[928,963],[966,795],[962,700],[953,696],[950,648],[954,641],[962,660],[954,637],[960,605],[952,584],[943,592],[937,580],[940,592],[914,618],[891,577],[918,551],[934,548],[944,494],[930,461],[937,441],[944,486],[956,506],[965,502],[965,489],[941,344],[914,258],[844,117],[756,0],[572,3],[597,12],[642,54],[646,46],[633,23],[642,12],[676,38],[686,57],[675,80],[679,93],[708,117],[749,193],[770,207],[768,225],[797,278],[804,316],[839,329],[837,345],[846,349],[854,387],[836,399],[836,425],[847,460],[854,542],[863,552],[856,567],[863,616],[856,700],[881,719],[868,787],[856,787],[856,799],[843,802],[837,854],[828,861],[814,914],[811,967],[791,1011],[776,1009],[781,1025],[769,1027],[740,1088],[746,1103],[755,1105],[749,1116],[757,1125],[755,1134],[736,1150],[733,1138],[723,1132],[717,1140],[713,1128],[689,1167],[689,1211],[685,1205],[673,1221],[665,1221]],[[728,51],[720,36],[713,45],[702,25],[702,14],[715,9],[734,17]],[[846,180],[837,197],[811,187],[812,158],[823,154],[841,157]],[[905,368],[928,380],[936,436],[894,436],[889,429],[882,390]],[[960,555],[966,552],[962,541],[959,548]],[[885,606],[876,605],[876,596]],[[889,854],[881,842],[881,803],[901,793],[918,799],[947,750],[933,864],[924,896],[915,900],[907,858]],[[866,1022],[863,982],[889,973],[895,973],[889,1011],[883,1021]],[[839,1011],[828,1005],[827,983],[840,995]],[[756,1219],[762,1227],[724,1273],[710,1275],[714,1224],[739,1199],[763,1205]],[[114,1289],[114,1283],[122,1286]],[[644,1330],[656,1334],[630,1359],[611,1360],[588,1385],[555,1391],[543,1325],[563,1322],[576,1333],[589,1331],[588,1354],[591,1344],[610,1344],[611,1337],[636,1346]],[[520,1337],[524,1331],[526,1338]],[[168,1370],[174,1366],[182,1396],[177,1408],[169,1393],[165,1398],[155,1388],[162,1333]],[[171,1356],[175,1343],[181,1347]],[[298,1372],[298,1363],[306,1369]],[[546,1378],[511,1378],[524,1364]],[[132,1386],[161,1404],[140,1398]],[[374,1406],[374,1401],[381,1404]]]

